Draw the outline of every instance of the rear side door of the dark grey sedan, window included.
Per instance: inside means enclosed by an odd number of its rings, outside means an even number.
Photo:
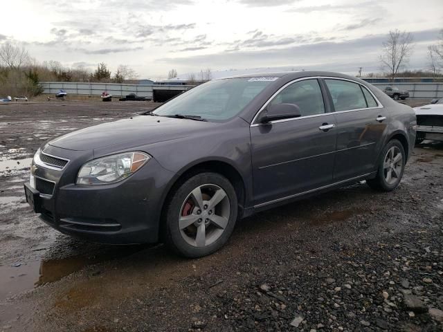
[[[386,111],[362,84],[325,79],[336,117],[334,182],[373,172],[388,127]]]

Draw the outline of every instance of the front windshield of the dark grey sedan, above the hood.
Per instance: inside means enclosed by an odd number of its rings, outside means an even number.
[[[158,116],[200,116],[223,121],[236,116],[278,77],[242,77],[215,80],[196,86],[152,113]]]

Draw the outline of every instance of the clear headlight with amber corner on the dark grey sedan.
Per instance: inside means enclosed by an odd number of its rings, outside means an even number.
[[[145,165],[150,158],[142,152],[127,152],[91,160],[80,168],[77,184],[105,185],[122,181]]]

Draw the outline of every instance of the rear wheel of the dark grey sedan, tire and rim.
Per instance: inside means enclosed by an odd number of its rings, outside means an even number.
[[[392,154],[390,154],[391,151],[394,157],[393,163],[390,163],[392,160],[392,157],[390,157],[392,156]],[[388,154],[390,154],[390,156],[388,156]],[[397,157],[397,155],[400,155],[401,159],[395,161],[395,159],[400,158]],[[399,142],[399,140],[390,140],[383,148],[383,151],[381,151],[378,161],[377,175],[375,178],[366,180],[366,183],[368,183],[372,189],[382,192],[391,192],[392,190],[395,190],[403,177],[405,162],[406,154],[401,142]],[[390,176],[388,173],[390,173]]]

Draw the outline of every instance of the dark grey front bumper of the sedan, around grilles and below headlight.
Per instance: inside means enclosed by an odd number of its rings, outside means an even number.
[[[35,208],[45,223],[64,234],[100,243],[158,241],[161,205],[172,172],[152,158],[119,183],[76,185],[78,169],[91,155],[51,146],[44,152],[71,160],[62,171],[33,167],[33,176],[54,183],[53,194],[39,194]]]

